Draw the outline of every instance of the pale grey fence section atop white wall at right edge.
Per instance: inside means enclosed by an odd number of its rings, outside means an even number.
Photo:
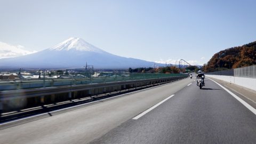
[[[234,69],[234,76],[256,78],[256,65]]]

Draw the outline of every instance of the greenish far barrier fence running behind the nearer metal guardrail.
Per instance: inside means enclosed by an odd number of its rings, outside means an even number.
[[[19,89],[33,89],[39,87],[53,87],[64,85],[80,85],[93,83],[107,83],[117,81],[131,81],[139,79],[152,79],[182,76],[181,74],[136,74],[131,73],[128,77],[104,77],[104,78],[83,78],[83,79],[45,79],[45,80],[30,80],[30,81],[0,81],[0,91],[4,90],[19,90]]]

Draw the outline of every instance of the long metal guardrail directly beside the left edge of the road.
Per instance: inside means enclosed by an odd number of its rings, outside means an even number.
[[[0,122],[10,121],[10,119],[22,118],[22,117],[26,117],[34,114],[41,114],[47,111],[57,110],[63,107],[77,106],[81,102],[85,103],[93,100],[103,99],[106,97],[113,97],[115,94],[125,93],[126,90],[127,92],[135,91],[137,89],[141,90],[146,87],[165,84],[165,83],[177,81],[179,79],[183,79],[186,77],[188,77],[188,75],[163,77],[163,78],[138,79],[138,80],[129,80],[129,81],[116,81],[116,82],[106,82],[106,83],[42,87],[42,88],[36,88],[36,89],[0,91]],[[105,88],[108,88],[108,87],[109,88],[114,87],[114,89],[110,88],[109,89],[110,91],[109,90],[105,91]],[[106,93],[104,92],[102,93],[101,91],[101,93],[96,93],[94,95],[82,95],[82,97],[79,97],[78,95],[75,94],[78,91],[84,92],[87,90],[91,91],[95,89],[104,90]],[[64,95],[62,95],[62,93]],[[65,95],[65,93],[66,94],[73,93],[74,95],[72,97],[67,98],[66,97],[67,95]],[[55,97],[55,94],[57,94],[58,96]],[[42,98],[47,99],[46,97],[48,97],[48,100],[49,98],[53,98],[53,99],[51,99],[46,103],[44,101],[43,102],[31,101],[31,100],[38,100],[38,98],[40,98],[40,100],[42,100]],[[61,99],[61,101],[58,101],[58,98],[61,98],[61,97],[63,97],[64,99]],[[54,99],[57,101],[55,101]],[[73,100],[70,100],[70,99],[73,99]],[[9,103],[10,101],[17,101],[17,102],[21,101],[21,104],[23,101],[23,105],[15,105],[15,106],[6,105],[6,103]],[[27,103],[29,101],[30,103]],[[36,102],[36,104],[34,102]]]

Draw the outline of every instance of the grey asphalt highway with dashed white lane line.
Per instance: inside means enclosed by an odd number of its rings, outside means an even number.
[[[0,131],[0,143],[256,143],[256,115],[219,85],[154,87]]]

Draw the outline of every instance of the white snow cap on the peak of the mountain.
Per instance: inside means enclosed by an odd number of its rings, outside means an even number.
[[[98,52],[105,53],[105,51],[95,47],[94,45],[87,43],[84,39],[79,37],[70,37],[66,41],[57,44],[50,48],[50,51],[89,51],[89,52]]]

